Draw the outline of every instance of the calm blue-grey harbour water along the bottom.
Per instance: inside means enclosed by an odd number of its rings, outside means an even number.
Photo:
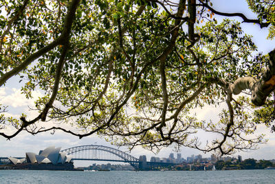
[[[207,172],[0,170],[0,183],[275,183],[275,170]]]

